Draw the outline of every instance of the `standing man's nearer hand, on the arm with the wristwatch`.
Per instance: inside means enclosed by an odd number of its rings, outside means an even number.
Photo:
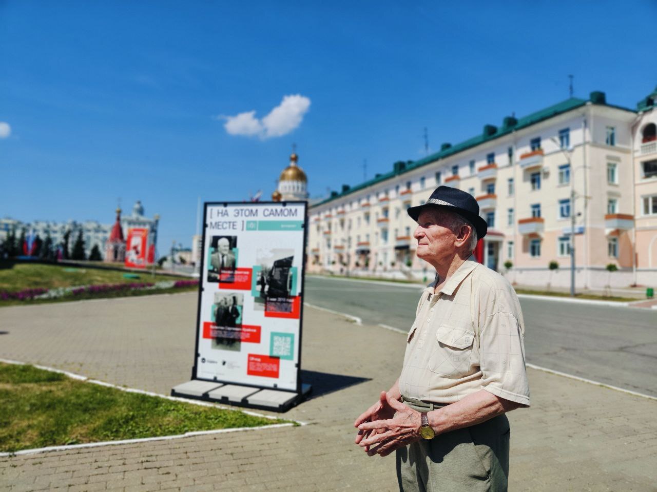
[[[381,394],[381,403],[384,396],[387,406],[392,411],[396,411],[397,415],[391,419],[364,421],[357,424],[359,436],[356,438],[356,443],[365,448],[368,456],[377,454],[387,456],[400,447],[420,440],[420,426],[422,425],[420,412],[397,400],[391,400],[385,393]],[[361,417],[363,416],[361,415]],[[374,444],[378,445],[371,448]]]

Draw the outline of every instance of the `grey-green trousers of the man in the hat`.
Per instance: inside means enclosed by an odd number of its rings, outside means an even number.
[[[509,479],[506,415],[397,449],[401,492],[506,492]]]

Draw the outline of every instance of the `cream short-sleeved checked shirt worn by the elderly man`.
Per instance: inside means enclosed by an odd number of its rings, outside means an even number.
[[[470,256],[438,293],[434,285],[407,337],[401,395],[446,405],[484,389],[529,406],[524,322],[509,281]]]

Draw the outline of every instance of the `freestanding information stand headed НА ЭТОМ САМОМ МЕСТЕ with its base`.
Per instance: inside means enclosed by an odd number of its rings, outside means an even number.
[[[205,203],[192,380],[171,396],[287,411],[301,381],[306,202]]]

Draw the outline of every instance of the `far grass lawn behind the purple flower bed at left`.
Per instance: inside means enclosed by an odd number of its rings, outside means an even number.
[[[16,292],[24,289],[56,289],[74,285],[95,285],[100,283],[131,283],[164,280],[180,280],[184,277],[169,275],[153,276],[148,272],[139,273],[139,279],[124,278],[122,272],[106,268],[72,267],[67,265],[50,265],[41,263],[0,261],[0,291]]]

